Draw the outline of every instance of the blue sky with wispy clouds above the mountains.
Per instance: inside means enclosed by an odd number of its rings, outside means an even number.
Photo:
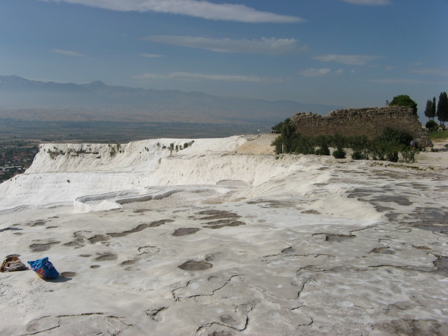
[[[1,0],[0,75],[345,107],[448,91],[447,0]]]

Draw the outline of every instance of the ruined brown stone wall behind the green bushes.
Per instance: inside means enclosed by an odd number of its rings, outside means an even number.
[[[322,116],[313,113],[296,113],[291,119],[297,131],[313,135],[367,135],[369,139],[380,136],[386,127],[409,132],[422,148],[433,147],[428,129],[422,128],[418,116],[405,107],[344,109]]]

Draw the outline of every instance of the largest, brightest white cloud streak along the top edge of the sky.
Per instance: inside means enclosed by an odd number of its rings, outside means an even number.
[[[275,14],[247,7],[243,4],[213,3],[199,0],[41,0],[69,2],[117,11],[158,12],[249,23],[303,22],[297,16]]]

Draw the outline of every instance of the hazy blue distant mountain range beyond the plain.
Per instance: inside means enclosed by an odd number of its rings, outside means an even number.
[[[201,92],[110,86],[101,81],[78,85],[0,76],[0,117],[10,117],[7,111],[11,109],[32,109],[39,111],[31,113],[36,118],[47,111],[64,120],[76,117],[77,120],[273,123],[292,117],[296,112],[325,115],[340,108],[285,100],[272,102]],[[29,115],[27,113],[28,118]]]

